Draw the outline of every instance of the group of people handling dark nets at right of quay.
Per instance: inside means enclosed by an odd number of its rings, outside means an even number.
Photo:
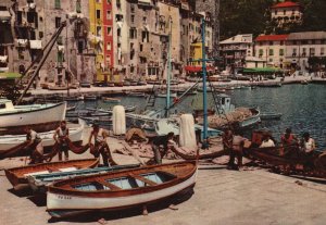
[[[250,141],[242,137],[239,130],[226,129],[223,135],[223,146],[229,152],[229,162],[227,168],[239,170],[242,166],[243,147],[246,142]],[[276,140],[271,134],[265,133],[262,137],[259,148],[274,148],[276,147]],[[304,133],[301,139],[292,134],[291,128],[287,128],[285,134],[280,137],[280,150],[279,155],[287,155],[294,153],[301,158],[313,157],[316,149],[315,140],[309,133]],[[235,160],[237,159],[237,163]]]

